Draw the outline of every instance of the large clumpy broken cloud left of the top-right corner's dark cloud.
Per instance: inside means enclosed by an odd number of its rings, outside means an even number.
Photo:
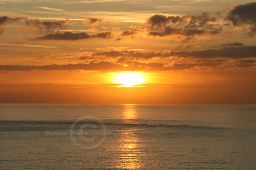
[[[200,35],[215,35],[222,31],[222,27],[218,24],[209,24],[209,22],[216,22],[219,15],[209,15],[202,12],[201,15],[184,15],[184,16],[165,16],[156,14],[147,19],[151,26],[133,26],[135,30],[163,30],[150,31],[148,36],[178,36],[182,41],[188,41],[195,36]],[[180,37],[181,36],[181,37]]]

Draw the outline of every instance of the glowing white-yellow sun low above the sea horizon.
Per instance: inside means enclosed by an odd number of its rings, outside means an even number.
[[[131,87],[143,83],[142,76],[138,73],[119,73],[116,78],[116,83],[124,84],[123,87]]]

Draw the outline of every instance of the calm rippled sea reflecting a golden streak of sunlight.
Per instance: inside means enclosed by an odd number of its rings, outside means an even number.
[[[0,104],[0,169],[256,169],[256,105]]]

